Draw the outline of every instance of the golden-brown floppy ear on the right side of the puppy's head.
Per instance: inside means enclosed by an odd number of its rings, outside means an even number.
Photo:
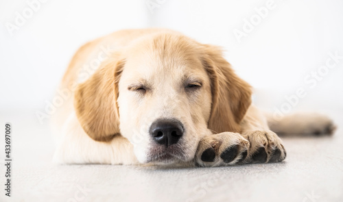
[[[211,79],[212,108],[209,129],[240,132],[239,123],[251,104],[251,87],[222,57],[222,50],[204,45],[203,64]]]

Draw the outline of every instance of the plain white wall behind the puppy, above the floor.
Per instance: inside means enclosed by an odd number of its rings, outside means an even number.
[[[280,108],[301,87],[307,95],[294,108],[343,110],[343,60],[316,87],[304,82],[329,52],[343,55],[343,1],[275,0],[241,42],[235,29],[242,31],[267,1],[50,0],[10,34],[8,23],[15,25],[16,12],[23,14],[32,1],[0,0],[0,112],[44,110],[84,42],[144,27],[168,27],[224,47],[237,73],[263,92],[259,105]],[[147,2],[159,4],[152,9]]]

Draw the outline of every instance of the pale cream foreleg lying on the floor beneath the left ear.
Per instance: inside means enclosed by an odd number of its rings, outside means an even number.
[[[87,136],[75,114],[69,116],[61,135],[54,155],[58,164],[138,164],[133,145],[126,138],[97,142]]]

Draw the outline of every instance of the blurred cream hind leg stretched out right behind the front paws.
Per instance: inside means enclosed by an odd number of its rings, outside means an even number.
[[[335,124],[328,116],[317,113],[294,113],[282,117],[267,116],[268,125],[280,136],[331,136]]]

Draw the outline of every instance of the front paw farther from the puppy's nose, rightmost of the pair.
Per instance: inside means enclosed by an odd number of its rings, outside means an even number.
[[[244,163],[282,162],[285,159],[285,147],[274,132],[248,131],[243,136],[250,142],[248,157]]]

